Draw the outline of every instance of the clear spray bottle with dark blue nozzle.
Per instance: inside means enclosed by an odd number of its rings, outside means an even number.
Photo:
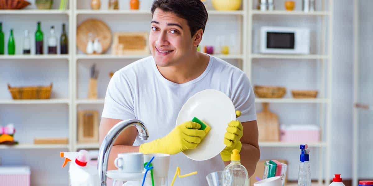
[[[307,144],[300,145],[301,155],[298,173],[298,186],[311,186],[310,155]]]

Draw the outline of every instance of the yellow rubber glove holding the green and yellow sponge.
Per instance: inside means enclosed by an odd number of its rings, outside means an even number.
[[[200,124],[195,122],[185,122],[176,126],[163,138],[140,145],[140,153],[165,153],[177,154],[187,149],[194,149],[206,136]]]

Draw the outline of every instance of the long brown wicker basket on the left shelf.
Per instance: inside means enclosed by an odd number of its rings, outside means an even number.
[[[10,87],[8,84],[8,89],[13,99],[49,99],[52,83],[46,87]]]

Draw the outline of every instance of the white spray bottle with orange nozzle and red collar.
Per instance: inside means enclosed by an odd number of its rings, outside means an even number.
[[[62,167],[71,161],[69,166],[71,186],[99,186],[100,179],[97,168],[88,163],[90,160],[88,151],[61,152],[60,157],[65,158]]]

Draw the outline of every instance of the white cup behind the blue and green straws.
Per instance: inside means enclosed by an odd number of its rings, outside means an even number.
[[[144,154],[144,163],[149,162],[153,156],[154,159],[151,161],[151,165],[153,166],[154,185],[167,185],[170,155],[160,153]],[[150,172],[148,172],[146,177],[146,185],[151,185]]]

